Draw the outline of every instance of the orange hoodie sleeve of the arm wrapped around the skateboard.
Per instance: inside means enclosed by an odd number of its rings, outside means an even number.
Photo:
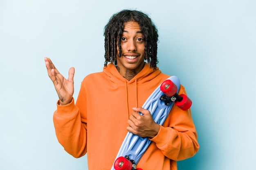
[[[179,94],[186,94],[182,85]],[[193,157],[198,152],[199,144],[191,110],[183,111],[173,105],[158,134],[150,140],[169,159],[179,161]]]

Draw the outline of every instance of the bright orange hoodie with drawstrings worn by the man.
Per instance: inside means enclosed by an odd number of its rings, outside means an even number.
[[[141,107],[148,96],[169,76],[147,63],[132,80],[122,77],[113,64],[103,72],[86,76],[74,105],[57,103],[54,126],[58,141],[74,157],[87,153],[89,170],[110,170],[127,134],[132,107]],[[186,94],[181,85],[179,94]],[[177,160],[199,149],[191,111],[171,109],[137,168],[177,170]]]

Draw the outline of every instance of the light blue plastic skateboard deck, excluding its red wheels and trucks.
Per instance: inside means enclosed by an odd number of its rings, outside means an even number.
[[[180,79],[177,76],[171,76],[166,80],[168,79],[171,80],[177,86],[177,92],[179,92]],[[160,90],[160,86],[161,85],[159,85],[155,89],[155,91],[148,97],[142,108],[149,110],[154,121],[157,124],[162,125],[166,117],[168,116],[168,113],[170,112],[171,108],[173,107],[174,102],[171,102],[170,105],[167,106],[164,104],[164,101],[159,100],[159,98],[164,94]],[[119,149],[116,159],[118,157],[124,157],[128,155],[130,159],[134,160],[135,163],[137,164],[141,159],[142,155],[145,153],[148,146],[150,145],[150,143],[151,141],[148,139],[148,137],[139,137],[128,132],[126,137],[124,138],[123,144]],[[114,164],[111,170],[115,170]]]

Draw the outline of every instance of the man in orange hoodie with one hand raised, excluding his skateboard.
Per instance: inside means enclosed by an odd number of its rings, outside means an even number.
[[[87,153],[89,170],[110,170],[129,131],[152,141],[137,168],[176,170],[176,161],[192,157],[199,149],[190,109],[182,111],[174,105],[160,126],[141,108],[169,77],[156,66],[157,29],[144,13],[124,10],[110,18],[104,35],[103,72],[84,78],[76,104],[74,68],[65,79],[45,58],[59,97],[54,112],[58,141],[74,157]],[[182,85],[179,94],[186,94]]]

